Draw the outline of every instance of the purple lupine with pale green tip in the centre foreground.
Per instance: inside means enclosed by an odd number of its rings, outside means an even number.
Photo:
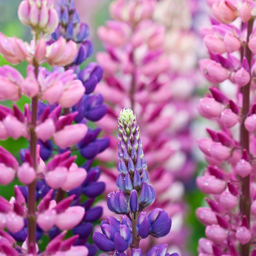
[[[118,191],[110,193],[107,202],[112,212],[123,216],[121,221],[114,217],[103,220],[102,233],[95,232],[93,241],[103,251],[124,253],[130,247],[133,255],[142,255],[140,240],[149,235],[156,238],[166,236],[172,220],[159,208],[149,215],[143,211],[154,202],[156,194],[149,184],[139,126],[130,109],[123,109],[119,115],[118,139]],[[153,255],[151,253],[155,250],[160,252],[160,248],[153,247],[148,255]],[[167,246],[164,248],[166,252]]]

